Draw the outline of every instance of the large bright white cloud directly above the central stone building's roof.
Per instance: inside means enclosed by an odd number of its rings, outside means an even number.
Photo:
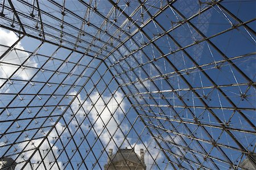
[[[115,143],[121,145],[124,135],[121,130],[117,130],[121,123],[118,117],[123,114],[122,109],[125,110],[126,106],[125,102],[122,102],[123,95],[121,92],[115,92],[114,97],[100,96],[98,92],[94,92],[90,95],[90,99],[92,101],[85,101],[83,107],[85,108],[85,111],[89,113],[92,124],[95,122],[94,129],[96,130],[97,135],[101,134],[101,141],[105,145],[109,143],[108,148],[115,148]],[[92,111],[90,111],[91,109]],[[99,114],[100,118],[98,118]],[[104,124],[106,125],[105,129]],[[113,138],[110,140],[111,137]]]

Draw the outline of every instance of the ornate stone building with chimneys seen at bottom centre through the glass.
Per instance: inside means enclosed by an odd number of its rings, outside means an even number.
[[[146,170],[144,163],[144,151],[141,149],[141,155],[137,155],[134,148],[119,149],[117,153],[113,155],[113,149],[109,149],[108,163],[104,165],[104,169],[137,169]]]

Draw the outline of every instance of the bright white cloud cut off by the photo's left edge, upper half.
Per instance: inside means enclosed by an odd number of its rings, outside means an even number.
[[[18,36],[16,36],[13,31],[5,31],[4,29],[0,29],[1,45],[11,46],[18,39],[19,39]],[[29,53],[22,51],[24,50],[24,48],[20,41],[18,42],[18,44],[14,46],[14,48],[15,49],[11,50],[1,59],[0,78],[10,78],[10,76],[18,69],[18,66],[15,66],[15,65],[21,65],[24,61],[26,61],[28,57],[30,57]],[[5,53],[7,49],[8,48],[1,46],[0,56],[2,56],[2,54]],[[2,63],[2,62],[6,62],[6,63]],[[7,63],[15,64],[15,65],[10,65]],[[30,64],[31,67],[38,66],[38,63],[36,63],[32,58],[28,58],[26,63],[32,63]],[[35,70],[31,70],[31,69],[28,69],[27,67],[23,67],[22,69],[19,69],[16,72],[15,78],[29,80],[34,74],[35,74]]]

